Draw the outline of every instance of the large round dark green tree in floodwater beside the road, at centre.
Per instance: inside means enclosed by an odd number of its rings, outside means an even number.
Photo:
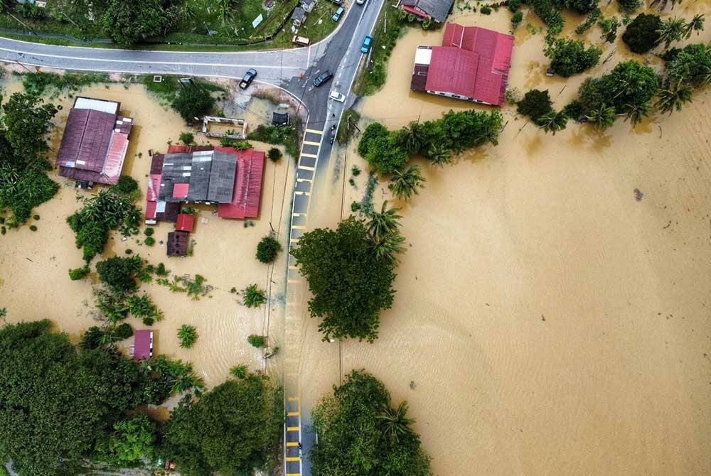
[[[345,337],[373,342],[380,310],[392,305],[392,264],[378,260],[361,220],[348,217],[336,231],[314,229],[292,249],[309,281],[309,313],[321,318],[324,340]]]

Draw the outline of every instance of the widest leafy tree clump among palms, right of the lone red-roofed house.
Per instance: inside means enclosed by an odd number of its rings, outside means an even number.
[[[633,125],[645,117],[650,102],[659,90],[656,73],[651,67],[634,60],[623,61],[599,78],[588,78],[580,86],[583,114],[604,129],[617,115],[624,115]]]

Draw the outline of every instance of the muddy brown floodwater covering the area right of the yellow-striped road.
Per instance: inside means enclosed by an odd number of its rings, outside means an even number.
[[[700,1],[674,13],[699,9],[711,11]],[[454,19],[508,31],[509,18]],[[547,88],[560,109],[584,76],[545,77],[543,35],[527,21],[538,25],[529,15],[515,33],[510,87]],[[415,47],[441,34],[401,38],[385,89],[360,105],[366,121],[488,109],[410,91]],[[707,29],[691,41],[710,39]],[[609,45],[602,58],[614,50],[593,75],[632,56]],[[303,405],[365,368],[395,404],[410,402],[437,475],[710,474],[710,104],[707,88],[635,129],[570,122],[556,136],[506,106],[498,146],[444,168],[420,162],[425,188],[391,202],[409,244],[380,337],[343,342],[339,359],[305,317]],[[346,213],[363,195],[367,164],[353,146],[340,159],[309,227],[337,225],[343,189]],[[356,188],[339,173],[353,164]],[[390,198],[382,182],[374,196],[376,209]]]

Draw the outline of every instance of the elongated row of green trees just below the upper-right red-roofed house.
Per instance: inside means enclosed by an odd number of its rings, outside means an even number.
[[[382,175],[404,172],[413,155],[424,156],[442,165],[468,148],[498,144],[502,120],[498,111],[470,110],[449,111],[442,119],[434,121],[413,121],[396,131],[373,122],[360,137],[358,153]]]

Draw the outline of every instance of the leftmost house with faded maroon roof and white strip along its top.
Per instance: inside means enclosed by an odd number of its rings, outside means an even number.
[[[133,119],[119,115],[115,101],[77,97],[59,146],[59,175],[78,185],[113,185],[119,180]]]

